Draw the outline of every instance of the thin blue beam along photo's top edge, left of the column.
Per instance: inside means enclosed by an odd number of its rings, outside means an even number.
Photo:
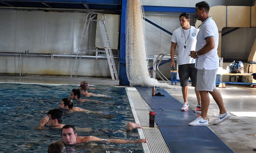
[[[4,0],[5,2],[81,3],[121,5],[121,0]]]

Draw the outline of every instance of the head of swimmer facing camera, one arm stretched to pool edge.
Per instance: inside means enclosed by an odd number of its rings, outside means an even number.
[[[65,144],[75,144],[77,133],[73,125],[65,125],[61,129],[61,138]]]

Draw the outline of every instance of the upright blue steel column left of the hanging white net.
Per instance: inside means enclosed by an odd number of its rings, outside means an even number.
[[[127,0],[122,0],[121,28],[120,28],[120,58],[119,58],[119,85],[130,85],[126,74],[125,60],[125,14]]]

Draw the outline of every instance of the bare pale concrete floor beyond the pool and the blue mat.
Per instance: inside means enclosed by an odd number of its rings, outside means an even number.
[[[80,84],[87,80],[90,85],[119,85],[119,80],[107,78],[89,78],[89,77],[48,77],[48,76],[26,76],[26,77],[8,77],[0,76],[0,82],[13,83],[49,83],[49,84]],[[176,89],[165,89],[173,97],[183,102],[181,87],[179,83],[174,85]],[[208,110],[208,127],[224,141],[236,153],[256,153],[256,88],[250,88],[241,85],[226,85],[226,88],[217,88],[224,99],[226,110],[232,115],[228,120],[212,125],[219,114],[219,108],[210,95],[210,106]],[[196,109],[197,99],[194,88],[189,87],[189,107]],[[232,112],[245,112],[242,116],[236,116]],[[248,112],[254,112],[249,115]],[[198,140],[200,143],[200,140]]]

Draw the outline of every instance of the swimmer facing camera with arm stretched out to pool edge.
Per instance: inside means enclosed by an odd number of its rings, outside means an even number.
[[[128,141],[121,139],[101,139],[94,136],[77,136],[76,129],[73,125],[65,125],[61,129],[61,138],[64,144],[80,144],[88,141],[108,141],[111,143],[147,143],[146,139],[139,139],[137,141]]]

